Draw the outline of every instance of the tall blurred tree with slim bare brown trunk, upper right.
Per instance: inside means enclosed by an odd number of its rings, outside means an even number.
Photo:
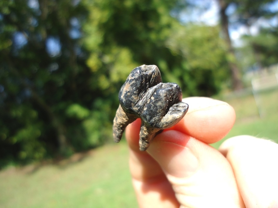
[[[234,89],[240,89],[243,85],[240,75],[241,72],[235,59],[235,50],[231,43],[229,28],[232,26],[238,27],[239,25],[245,25],[249,28],[256,23],[259,18],[273,18],[277,15],[277,11],[270,9],[273,2],[275,2],[275,0],[218,0],[218,4],[220,5],[221,28],[230,54],[229,64],[232,72]],[[233,12],[227,14],[228,8],[231,7],[234,8]],[[259,40],[259,38],[257,38],[257,40]],[[252,42],[255,56],[258,54],[258,48],[262,48],[258,47],[258,44],[260,45],[259,42]]]

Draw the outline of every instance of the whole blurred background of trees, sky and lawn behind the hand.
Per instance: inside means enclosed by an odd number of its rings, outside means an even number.
[[[225,138],[278,141],[277,12],[277,0],[1,0],[0,206],[137,207],[112,121],[142,64],[183,97],[231,104]]]

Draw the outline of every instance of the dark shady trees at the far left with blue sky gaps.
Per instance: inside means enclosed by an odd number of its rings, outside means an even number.
[[[74,1],[1,1],[2,164],[75,149],[67,129],[80,122],[65,112],[74,103],[91,107],[90,71],[79,45],[86,15]]]

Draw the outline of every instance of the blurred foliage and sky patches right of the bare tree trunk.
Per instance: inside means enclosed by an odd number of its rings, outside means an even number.
[[[276,0],[238,1],[223,0],[227,7],[234,8],[229,14],[231,28],[244,26],[249,30],[243,37],[243,46],[237,49],[238,60],[243,70],[254,70],[277,63],[277,9],[273,8]],[[263,23],[263,24],[262,24]],[[257,28],[257,34],[251,30]],[[266,41],[267,40],[267,41]]]

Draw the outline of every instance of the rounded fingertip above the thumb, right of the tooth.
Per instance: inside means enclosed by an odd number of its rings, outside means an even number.
[[[183,102],[189,104],[189,110],[174,130],[210,144],[221,140],[233,127],[235,110],[228,103],[207,97],[190,97]]]

